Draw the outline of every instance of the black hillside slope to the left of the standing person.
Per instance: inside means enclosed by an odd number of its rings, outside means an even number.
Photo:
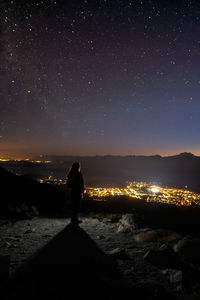
[[[0,167],[1,215],[32,217],[53,211],[62,213],[64,192],[56,186],[40,184],[27,177],[15,175]]]

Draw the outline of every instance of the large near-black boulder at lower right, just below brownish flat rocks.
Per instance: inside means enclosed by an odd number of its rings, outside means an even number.
[[[144,255],[144,259],[160,269],[178,269],[182,268],[179,256],[172,250],[150,250]]]

